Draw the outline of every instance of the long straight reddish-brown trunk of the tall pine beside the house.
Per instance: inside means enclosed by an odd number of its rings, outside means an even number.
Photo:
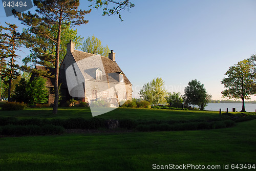
[[[55,54],[55,77],[54,77],[54,104],[53,104],[53,114],[57,114],[58,112],[58,103],[59,103],[59,87],[58,87],[58,79],[59,79],[59,47],[60,47],[60,33],[61,33],[61,20],[59,21],[58,26],[58,35],[57,35],[57,47]]]

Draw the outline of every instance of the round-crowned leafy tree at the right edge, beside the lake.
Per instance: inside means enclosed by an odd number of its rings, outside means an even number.
[[[242,99],[242,110],[245,111],[245,99],[250,99],[250,95],[255,94],[254,74],[251,72],[253,66],[248,60],[238,62],[236,65],[229,67],[221,83],[226,90],[221,93],[223,97]]]

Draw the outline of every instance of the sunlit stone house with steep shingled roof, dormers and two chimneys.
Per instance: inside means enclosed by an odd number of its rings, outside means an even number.
[[[59,67],[61,102],[74,98],[89,103],[104,100],[117,105],[118,102],[132,100],[132,83],[115,59],[113,50],[109,57],[99,56],[75,50],[75,43],[70,40],[67,54]],[[41,66],[36,66],[36,69],[47,70]],[[47,78],[47,87],[51,104],[54,101],[52,78]]]

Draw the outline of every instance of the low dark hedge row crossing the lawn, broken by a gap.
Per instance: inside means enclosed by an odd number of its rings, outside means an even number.
[[[256,119],[256,115],[241,115],[237,120],[233,116],[221,115],[208,120],[135,120],[120,119],[119,127],[137,131],[184,131],[202,129],[220,129],[231,127],[235,122]],[[45,135],[61,134],[64,129],[99,129],[108,127],[108,120],[102,118],[70,119],[21,119],[0,117],[0,134],[2,135]]]

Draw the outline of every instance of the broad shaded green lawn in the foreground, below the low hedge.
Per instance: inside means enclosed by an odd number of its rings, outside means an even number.
[[[225,170],[236,170],[230,164],[256,164],[255,125],[251,120],[219,130],[5,137],[0,170],[153,170],[154,163],[219,170],[229,164]]]

